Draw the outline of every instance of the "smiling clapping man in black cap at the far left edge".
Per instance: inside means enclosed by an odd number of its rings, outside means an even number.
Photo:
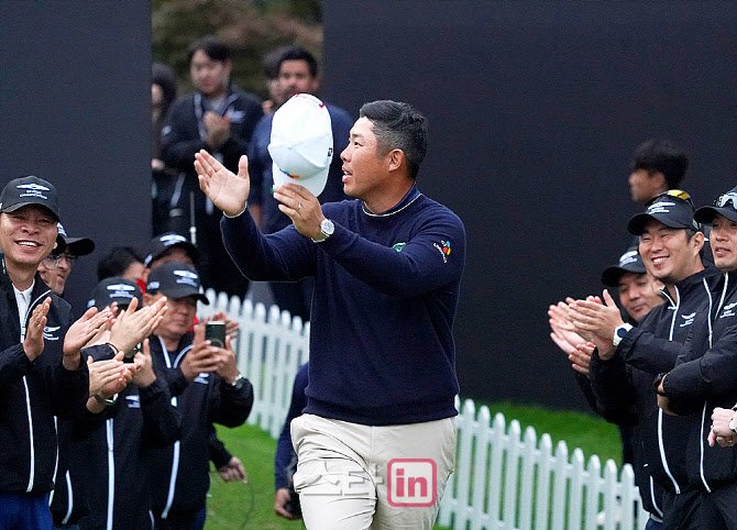
[[[58,211],[56,189],[37,177],[0,194],[0,528],[52,527],[54,416],[84,408],[80,350],[109,317],[92,309],[72,324],[69,305],[36,273],[56,243]]]

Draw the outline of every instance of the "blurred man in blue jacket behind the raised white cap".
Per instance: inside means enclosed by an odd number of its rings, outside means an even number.
[[[284,46],[273,52],[272,59],[276,76],[275,82],[284,92],[284,102],[298,93],[318,93],[320,87],[318,63],[307,49],[294,45]],[[332,132],[332,151],[341,153],[348,145],[348,135],[354,120],[340,107],[327,102],[324,107],[328,110]],[[262,118],[253,131],[248,152],[251,177],[249,209],[261,231],[266,234],[278,232],[292,223],[290,219],[279,211],[279,202],[274,198],[273,192],[275,184],[273,175],[278,178],[280,172],[278,167],[274,167],[270,144],[274,145],[275,142],[279,142],[279,136],[284,136],[278,126],[280,119],[274,114]],[[318,194],[312,192],[321,203],[337,202],[348,198],[343,194],[341,165],[340,157],[333,156],[327,173],[324,189]],[[309,320],[314,285],[312,278],[304,278],[293,283],[273,281],[270,284],[270,289],[274,303],[280,309],[289,311],[293,316],[298,314],[302,320]]]

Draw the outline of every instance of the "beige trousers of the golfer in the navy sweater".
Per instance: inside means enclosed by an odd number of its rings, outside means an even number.
[[[430,530],[455,462],[452,418],[362,426],[292,421],[295,489],[309,530]]]

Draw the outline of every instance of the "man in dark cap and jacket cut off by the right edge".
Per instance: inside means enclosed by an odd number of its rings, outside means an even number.
[[[657,379],[658,401],[667,412],[690,413],[689,479],[698,487],[712,519],[703,528],[737,528],[737,452],[710,446],[710,418],[715,408],[737,402],[737,188],[714,207],[700,208],[694,219],[712,225],[714,261],[723,273],[711,289],[710,311],[696,316],[678,363]],[[726,440],[734,445],[735,432]],[[686,434],[688,433],[688,434]]]

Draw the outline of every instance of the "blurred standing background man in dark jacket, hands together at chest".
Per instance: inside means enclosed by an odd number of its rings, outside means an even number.
[[[253,95],[231,85],[230,49],[216,37],[206,36],[190,46],[189,65],[197,91],[172,106],[162,131],[162,161],[178,172],[169,191],[167,230],[189,234],[194,214],[196,242],[202,256],[198,265],[202,284],[218,292],[243,298],[249,283],[238,274],[222,246],[219,224],[222,214],[198,191],[193,162],[195,153],[205,148],[211,151],[226,167],[235,169],[238,159],[246,153],[263,111]],[[195,205],[194,212],[190,211],[190,201]]]

